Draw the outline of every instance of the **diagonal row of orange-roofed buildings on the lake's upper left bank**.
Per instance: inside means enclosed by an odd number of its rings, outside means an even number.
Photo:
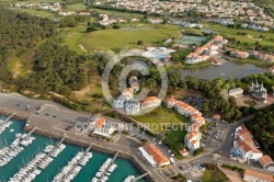
[[[210,56],[218,54],[218,50],[228,43],[227,39],[220,35],[216,35],[213,39],[207,42],[202,47],[197,47],[194,53],[189,54],[185,57],[186,64],[198,64],[208,60]]]

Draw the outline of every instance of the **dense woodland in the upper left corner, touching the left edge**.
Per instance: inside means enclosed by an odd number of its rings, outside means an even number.
[[[0,80],[10,81],[10,58],[24,48],[56,34],[56,25],[46,19],[0,8]]]

